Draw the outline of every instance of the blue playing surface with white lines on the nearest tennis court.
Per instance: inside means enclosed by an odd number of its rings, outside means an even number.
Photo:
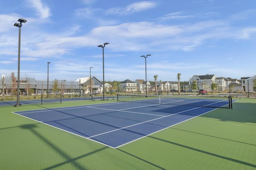
[[[221,103],[220,100],[215,102]],[[216,108],[116,102],[20,111],[16,114],[118,148],[214,109]]]

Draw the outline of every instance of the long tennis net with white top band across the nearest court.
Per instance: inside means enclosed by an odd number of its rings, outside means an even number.
[[[232,109],[231,96],[137,95],[118,93],[117,101]]]

